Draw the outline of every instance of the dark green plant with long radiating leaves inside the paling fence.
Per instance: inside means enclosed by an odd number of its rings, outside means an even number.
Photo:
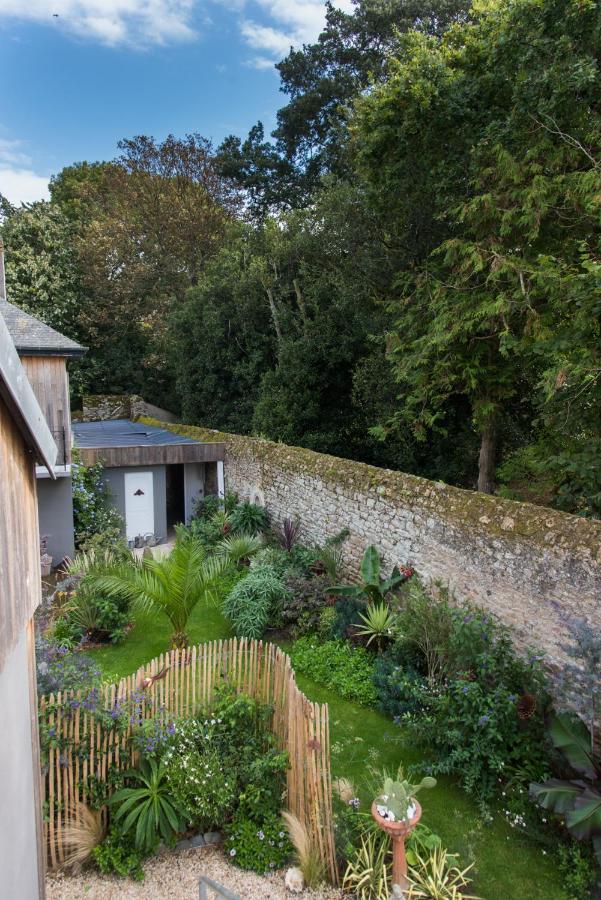
[[[125,787],[113,794],[109,803],[115,809],[115,820],[127,834],[135,827],[134,840],[139,850],[152,851],[160,838],[168,841],[181,831],[184,817],[172,797],[166,778],[166,765],[154,759],[143,759],[139,769],[126,773],[137,787]]]

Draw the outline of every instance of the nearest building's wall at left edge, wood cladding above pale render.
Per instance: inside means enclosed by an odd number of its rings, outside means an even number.
[[[34,461],[0,400],[0,897],[44,896],[32,616],[41,601]]]

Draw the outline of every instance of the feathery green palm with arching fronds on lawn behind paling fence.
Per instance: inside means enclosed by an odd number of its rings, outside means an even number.
[[[178,541],[169,556],[142,558],[112,571],[88,576],[88,583],[109,596],[125,596],[132,606],[167,616],[172,647],[187,647],[186,628],[196,605],[215,595],[221,576],[231,564],[227,551],[209,556],[190,538]]]

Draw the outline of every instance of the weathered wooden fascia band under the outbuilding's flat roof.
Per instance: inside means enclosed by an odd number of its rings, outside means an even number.
[[[225,455],[225,444],[149,444],[144,447],[82,447],[85,466],[102,462],[109,469],[120,466],[164,466],[186,462],[217,462]]]

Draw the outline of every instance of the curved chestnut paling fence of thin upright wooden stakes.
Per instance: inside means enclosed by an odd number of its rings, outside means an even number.
[[[136,761],[133,729],[144,719],[194,715],[224,683],[272,706],[273,733],[289,754],[286,805],[307,828],[336,883],[327,704],[305,697],[290,658],[275,644],[236,638],[169,651],[96,695],[66,691],[40,698],[50,868],[65,860],[65,829],[77,819],[78,804],[89,802],[111,771]],[[119,727],[111,727],[123,709],[125,721],[120,714]]]

